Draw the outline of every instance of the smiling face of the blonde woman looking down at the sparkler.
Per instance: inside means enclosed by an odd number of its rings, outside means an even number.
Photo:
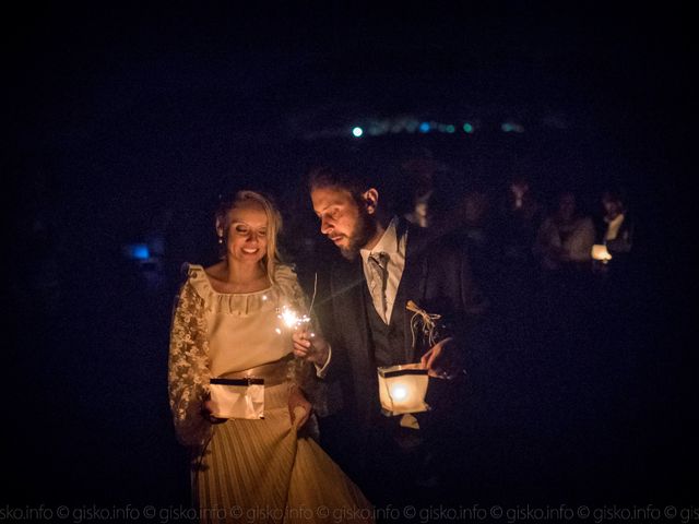
[[[238,204],[228,212],[226,255],[242,263],[260,262],[266,254],[268,217],[256,202]],[[225,235],[225,231],[221,231]]]

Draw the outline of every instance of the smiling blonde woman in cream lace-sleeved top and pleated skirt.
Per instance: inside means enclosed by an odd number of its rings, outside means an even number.
[[[222,259],[188,265],[169,348],[170,407],[192,451],[201,520],[313,522],[332,517],[317,511],[330,508],[371,521],[360,490],[301,430],[313,371],[294,358],[281,312],[306,312],[307,300],[279,260],[280,213],[239,191],[215,218]]]

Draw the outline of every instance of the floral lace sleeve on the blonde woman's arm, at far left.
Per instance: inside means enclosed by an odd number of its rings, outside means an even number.
[[[209,391],[209,341],[204,301],[187,282],[177,297],[170,329],[168,362],[169,403],[178,441],[199,446],[211,431],[201,415]]]

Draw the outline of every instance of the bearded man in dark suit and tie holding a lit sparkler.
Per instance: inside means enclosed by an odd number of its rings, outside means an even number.
[[[484,306],[463,248],[430,241],[424,230],[389,213],[377,180],[364,170],[318,167],[309,190],[320,233],[344,260],[331,270],[328,341],[299,332],[295,354],[313,362],[319,377],[345,385],[350,421],[343,446],[352,456],[345,467],[369,498],[377,504],[414,503],[414,493],[440,488],[443,466],[458,464],[454,452],[467,445],[459,436],[467,424],[471,362],[478,358],[471,333]],[[413,335],[408,301],[441,315],[436,344]],[[428,369],[431,409],[386,417],[377,367],[408,362]],[[396,489],[405,484],[407,490]]]

